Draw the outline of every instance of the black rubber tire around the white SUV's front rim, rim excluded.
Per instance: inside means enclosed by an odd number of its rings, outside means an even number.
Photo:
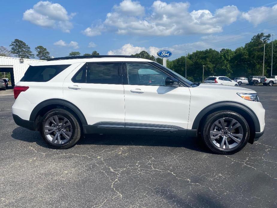
[[[219,120],[221,118],[234,119],[242,127],[243,136],[242,136],[240,142],[237,144],[237,146],[235,146],[233,148],[224,149],[224,148],[217,147],[211,139],[210,129],[211,129],[212,125],[214,125],[214,122],[216,122],[217,120]],[[244,119],[244,117],[241,116],[240,114],[238,114],[237,112],[217,111],[217,112],[214,112],[214,113],[208,115],[208,117],[206,118],[206,120],[202,126],[201,133],[202,133],[201,135],[202,135],[202,139],[203,139],[204,143],[211,151],[213,151],[214,153],[217,153],[217,154],[227,155],[227,154],[234,154],[234,153],[240,151],[247,144],[247,142],[249,140],[250,129],[249,129],[249,125],[248,125],[247,121]]]

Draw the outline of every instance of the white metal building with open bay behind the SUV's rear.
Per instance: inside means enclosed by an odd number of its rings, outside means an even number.
[[[24,75],[29,64],[43,60],[0,56],[0,72],[10,72],[12,86]]]

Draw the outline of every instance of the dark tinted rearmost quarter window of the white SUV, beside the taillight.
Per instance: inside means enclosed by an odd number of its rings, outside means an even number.
[[[47,82],[69,65],[29,66],[20,82]]]

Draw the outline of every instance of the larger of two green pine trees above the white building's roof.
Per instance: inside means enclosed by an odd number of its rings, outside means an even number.
[[[30,47],[22,40],[14,39],[10,46],[12,46],[10,52],[19,58],[34,57]]]

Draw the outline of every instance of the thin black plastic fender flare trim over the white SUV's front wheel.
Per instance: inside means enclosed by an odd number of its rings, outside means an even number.
[[[261,130],[260,122],[259,122],[259,119],[258,119],[257,115],[254,113],[254,111],[252,111],[252,109],[250,109],[247,105],[244,105],[242,103],[237,103],[237,102],[234,102],[234,101],[222,101],[222,102],[217,102],[217,103],[213,103],[211,105],[208,105],[207,107],[202,109],[197,114],[197,116],[195,117],[195,119],[193,121],[192,129],[198,129],[201,119],[209,111],[213,111],[213,110],[215,110],[217,108],[221,108],[221,107],[233,107],[233,108],[238,108],[238,109],[244,111],[253,120],[254,125],[255,125],[255,131],[260,132],[260,130]]]

